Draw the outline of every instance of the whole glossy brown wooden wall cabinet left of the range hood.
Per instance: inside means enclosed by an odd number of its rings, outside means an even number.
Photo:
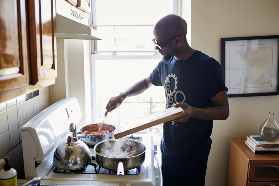
[[[55,83],[55,0],[0,0],[0,102]]]

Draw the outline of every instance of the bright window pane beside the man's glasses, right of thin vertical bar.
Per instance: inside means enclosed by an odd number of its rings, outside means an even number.
[[[153,26],[115,27],[117,51],[153,51]]]

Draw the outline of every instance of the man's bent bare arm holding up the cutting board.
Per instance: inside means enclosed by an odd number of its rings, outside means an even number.
[[[181,107],[185,115],[181,118],[175,119],[177,122],[186,122],[189,117],[195,117],[204,120],[225,120],[228,118],[230,109],[228,103],[227,91],[223,90],[211,98],[213,107],[195,108],[187,103],[177,103],[174,107]]]

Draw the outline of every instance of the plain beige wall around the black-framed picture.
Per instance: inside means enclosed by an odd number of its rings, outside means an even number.
[[[279,35],[278,0],[192,0],[191,46],[221,63],[221,38]],[[268,112],[279,123],[279,96],[229,98],[230,116],[214,121],[206,186],[227,185],[230,138],[258,135]]]

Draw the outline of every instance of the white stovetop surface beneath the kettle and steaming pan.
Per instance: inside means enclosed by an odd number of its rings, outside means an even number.
[[[154,167],[154,149],[153,149],[153,137],[151,132],[137,132],[135,137],[139,137],[142,143],[146,146],[145,160],[139,168],[131,169],[127,175],[116,175],[115,172],[108,169],[101,168],[96,165],[96,171],[94,164],[95,160],[92,160],[92,165],[87,166],[87,169],[77,173],[70,173],[70,171],[57,170],[52,165],[53,154],[50,154],[51,160],[49,162],[42,162],[39,166],[47,166],[47,171],[44,169],[44,173],[41,176],[42,180],[80,180],[80,181],[112,181],[112,182],[129,182],[132,185],[155,185],[155,167]],[[90,147],[91,155],[95,156],[94,149]],[[40,167],[42,170],[43,168]],[[99,171],[99,172],[98,172]]]

